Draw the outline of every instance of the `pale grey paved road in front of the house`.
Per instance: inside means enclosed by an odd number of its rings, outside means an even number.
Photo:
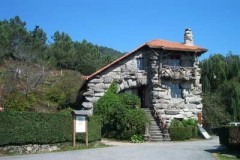
[[[218,137],[194,142],[121,144],[112,147],[0,157],[0,160],[213,160]]]

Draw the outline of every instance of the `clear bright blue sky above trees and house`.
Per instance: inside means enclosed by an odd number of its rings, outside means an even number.
[[[183,42],[191,28],[201,59],[240,55],[240,0],[1,0],[0,20],[19,16],[27,29],[40,26],[73,41],[130,52],[154,39]]]

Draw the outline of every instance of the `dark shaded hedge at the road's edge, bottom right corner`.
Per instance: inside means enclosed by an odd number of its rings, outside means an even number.
[[[220,144],[229,150],[240,149],[240,127],[223,126],[217,130]]]

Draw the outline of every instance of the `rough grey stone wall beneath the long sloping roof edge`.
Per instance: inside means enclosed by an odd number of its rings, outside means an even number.
[[[141,70],[138,69],[139,59],[142,59],[141,62],[143,63],[141,64],[143,65]],[[119,85],[119,91],[147,85],[147,63],[146,55],[142,55],[139,51],[95,76],[88,82],[87,90],[83,93],[85,96],[85,100],[82,103],[84,109],[92,112],[94,102],[104,95],[113,81]]]

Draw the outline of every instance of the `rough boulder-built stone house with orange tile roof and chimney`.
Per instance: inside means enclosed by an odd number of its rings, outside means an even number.
[[[93,103],[115,81],[119,92],[136,94],[142,108],[168,126],[173,118],[195,118],[202,112],[198,57],[207,49],[193,44],[190,29],[184,42],[152,40],[86,77],[82,107],[92,113]]]

